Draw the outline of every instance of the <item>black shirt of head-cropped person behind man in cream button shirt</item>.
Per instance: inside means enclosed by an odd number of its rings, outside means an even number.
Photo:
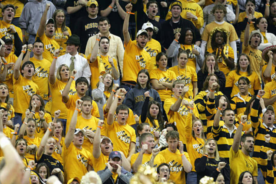
[[[108,6],[110,6],[111,0],[104,0],[99,3],[99,10],[105,10]],[[125,10],[125,6],[128,4],[127,2],[124,2],[122,0],[119,0],[119,4],[122,7],[123,10]],[[109,7],[108,7],[109,8]],[[131,15],[134,16],[134,15]],[[107,18],[110,21],[110,33],[115,34],[116,36],[120,37],[121,39],[124,39],[123,37],[123,23],[124,20],[120,17],[118,9],[116,5],[113,6],[111,12],[107,16]]]

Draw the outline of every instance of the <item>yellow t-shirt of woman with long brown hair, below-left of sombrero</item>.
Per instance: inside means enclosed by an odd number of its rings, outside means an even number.
[[[254,95],[254,90],[261,89],[260,80],[256,72],[252,72],[249,76],[247,76],[247,72],[239,71],[239,74],[240,75],[236,73],[236,70],[233,70],[226,77],[225,87],[232,87],[231,97],[239,92],[238,80],[240,77],[247,77],[249,79],[250,86],[248,92],[250,92],[251,95]]]

